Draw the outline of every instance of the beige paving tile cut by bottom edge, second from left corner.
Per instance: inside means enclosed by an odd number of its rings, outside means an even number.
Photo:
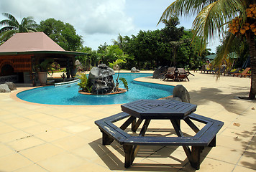
[[[44,161],[40,161],[37,164],[42,168],[47,169],[47,171],[63,172],[78,168],[82,166],[83,163],[84,161],[77,156],[73,156],[70,153],[60,153],[51,158],[47,158]]]

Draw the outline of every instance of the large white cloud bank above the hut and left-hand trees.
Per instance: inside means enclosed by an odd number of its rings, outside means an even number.
[[[72,24],[86,41],[88,35],[129,34],[132,18],[124,13],[125,0],[1,0],[0,11],[21,20],[33,16],[37,23],[54,18]],[[0,18],[1,19],[1,18]]]

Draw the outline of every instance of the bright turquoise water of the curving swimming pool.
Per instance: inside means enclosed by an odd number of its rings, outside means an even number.
[[[114,75],[114,78],[117,75]],[[59,87],[38,87],[19,92],[17,97],[28,102],[47,105],[111,105],[123,104],[140,99],[157,99],[173,95],[173,86],[158,85],[133,81],[137,77],[147,77],[152,74],[121,73],[129,86],[129,91],[116,95],[81,95],[76,83]],[[123,88],[123,85],[120,85]]]

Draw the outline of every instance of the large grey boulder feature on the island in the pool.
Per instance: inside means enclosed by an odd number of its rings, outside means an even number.
[[[113,75],[115,75],[114,70],[105,64],[93,67],[88,76],[92,85],[92,93],[100,95],[112,92],[114,89]]]

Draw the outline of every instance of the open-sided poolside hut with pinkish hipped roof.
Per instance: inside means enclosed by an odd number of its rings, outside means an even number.
[[[45,59],[69,71],[78,55],[85,53],[65,51],[43,32],[15,34],[0,46],[0,82],[35,82],[36,66]]]

